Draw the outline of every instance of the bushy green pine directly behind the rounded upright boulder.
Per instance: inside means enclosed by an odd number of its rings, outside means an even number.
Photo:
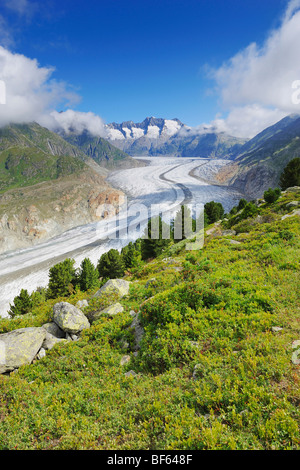
[[[74,290],[76,283],[74,263],[73,259],[67,258],[65,261],[50,268],[47,289],[48,299],[68,296]]]

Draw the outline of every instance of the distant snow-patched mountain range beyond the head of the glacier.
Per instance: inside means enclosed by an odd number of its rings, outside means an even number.
[[[232,158],[246,141],[213,128],[192,128],[179,119],[154,117],[107,124],[106,131],[107,140],[131,156]]]

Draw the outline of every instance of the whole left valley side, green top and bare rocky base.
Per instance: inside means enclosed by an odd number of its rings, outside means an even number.
[[[0,253],[119,210],[123,193],[79,148],[38,124],[0,129]]]

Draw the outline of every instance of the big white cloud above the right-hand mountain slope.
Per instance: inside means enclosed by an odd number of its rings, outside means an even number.
[[[227,118],[214,125],[233,135],[252,137],[290,113],[292,84],[300,79],[300,0],[289,2],[281,25],[262,46],[250,44],[213,72]]]

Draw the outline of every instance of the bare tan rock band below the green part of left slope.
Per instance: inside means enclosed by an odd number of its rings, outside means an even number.
[[[86,167],[64,176],[0,194],[0,253],[46,241],[71,228],[114,215],[121,191]]]

